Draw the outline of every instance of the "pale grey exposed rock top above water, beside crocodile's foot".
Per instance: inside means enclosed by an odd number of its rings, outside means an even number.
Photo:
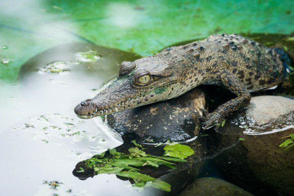
[[[219,132],[263,135],[294,128],[294,99],[281,96],[258,96],[250,105],[230,116]]]

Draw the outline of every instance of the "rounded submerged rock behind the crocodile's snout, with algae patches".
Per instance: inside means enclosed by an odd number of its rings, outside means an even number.
[[[29,59],[20,69],[22,83],[87,83],[95,82],[98,88],[119,71],[123,61],[133,61],[141,56],[117,49],[109,49],[92,43],[62,44]],[[94,81],[93,81],[94,80]],[[76,84],[77,86],[77,84]]]

